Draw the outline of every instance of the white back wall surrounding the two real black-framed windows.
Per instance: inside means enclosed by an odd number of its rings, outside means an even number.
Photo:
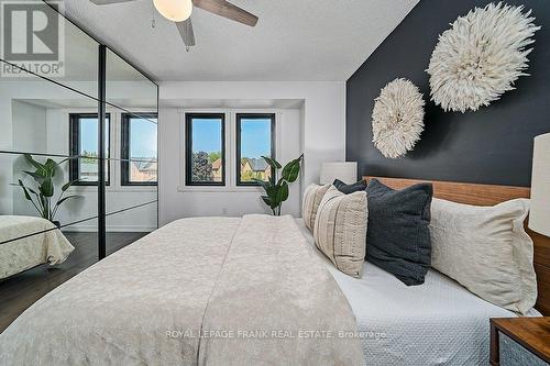
[[[183,115],[178,108],[189,103],[233,100],[239,101],[239,106],[246,106],[248,101],[255,100],[304,101],[299,110],[279,111],[283,131],[279,133],[280,153],[277,156],[286,162],[302,152],[305,157],[300,184],[294,185],[289,202],[283,206],[284,212],[300,214],[302,187],[319,181],[322,162],[345,158],[344,82],[163,82],[160,93],[161,225],[185,217],[267,212],[258,198],[258,189],[193,191],[182,187],[185,140]],[[299,141],[289,141],[292,135],[299,135]]]

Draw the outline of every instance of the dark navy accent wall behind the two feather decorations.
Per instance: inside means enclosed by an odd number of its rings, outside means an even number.
[[[395,31],[348,80],[346,159],[360,175],[529,186],[532,138],[550,132],[550,0],[509,0],[532,9],[531,76],[516,81],[490,107],[443,112],[429,100],[428,68],[438,35],[459,15],[491,1],[420,0]],[[425,132],[413,152],[385,158],[372,143],[374,98],[388,81],[405,77],[426,100]]]

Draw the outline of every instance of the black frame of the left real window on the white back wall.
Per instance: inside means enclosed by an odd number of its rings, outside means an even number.
[[[221,120],[221,181],[193,181],[193,120]],[[224,187],[226,186],[226,113],[185,113],[185,185],[189,187]]]

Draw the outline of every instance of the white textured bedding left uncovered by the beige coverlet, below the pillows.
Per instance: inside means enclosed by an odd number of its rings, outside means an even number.
[[[304,221],[296,222],[314,245]],[[487,365],[490,318],[516,317],[433,269],[424,285],[409,287],[365,262],[355,279],[316,252],[352,307],[367,365]]]

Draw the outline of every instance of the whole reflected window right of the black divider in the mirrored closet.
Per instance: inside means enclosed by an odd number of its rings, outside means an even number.
[[[156,186],[157,115],[122,114],[121,184]]]

